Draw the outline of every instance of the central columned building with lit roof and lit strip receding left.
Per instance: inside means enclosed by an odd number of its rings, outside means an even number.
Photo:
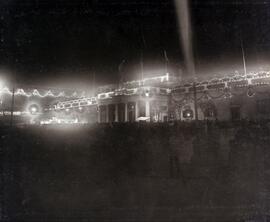
[[[97,96],[60,102],[55,110],[96,107],[97,122],[163,122],[168,119],[170,88],[176,79],[163,76],[100,87]]]

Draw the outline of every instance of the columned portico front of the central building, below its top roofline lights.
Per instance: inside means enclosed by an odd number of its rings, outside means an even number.
[[[98,100],[98,122],[167,121],[168,92],[141,87],[132,94],[118,92]]]

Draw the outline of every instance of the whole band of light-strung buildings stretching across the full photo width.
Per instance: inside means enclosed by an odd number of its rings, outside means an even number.
[[[270,72],[184,83],[165,74],[84,92],[15,91],[14,116],[25,123],[111,123],[269,119]],[[11,92],[1,89],[1,116],[10,115]],[[196,98],[196,100],[194,99]],[[196,109],[195,109],[196,105]]]

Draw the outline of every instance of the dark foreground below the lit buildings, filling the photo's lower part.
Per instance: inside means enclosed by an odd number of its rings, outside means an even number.
[[[1,131],[1,221],[267,221],[265,123]]]

